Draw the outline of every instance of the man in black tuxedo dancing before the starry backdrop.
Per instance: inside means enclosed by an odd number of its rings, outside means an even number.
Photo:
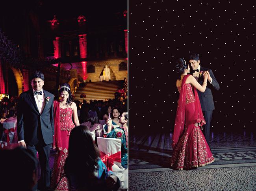
[[[202,75],[202,72],[207,70],[209,71],[206,90],[204,91],[204,93],[200,91],[197,91],[197,92],[198,92],[202,112],[204,115],[204,119],[206,121],[206,125],[203,126],[203,129],[204,129],[203,132],[204,132],[205,139],[208,145],[210,146],[211,118],[212,118],[212,111],[215,109],[211,90],[213,89],[219,90],[219,83],[217,82],[211,69],[204,68],[199,65],[200,59],[198,54],[191,54],[189,56],[189,63],[191,64],[191,67],[193,69],[190,74],[193,75],[201,85],[204,82],[204,77]]]

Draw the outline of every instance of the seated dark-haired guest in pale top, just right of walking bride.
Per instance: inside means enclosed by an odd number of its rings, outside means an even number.
[[[87,126],[93,137],[93,141],[97,141],[97,137],[103,137],[103,127],[99,124],[98,115],[95,110],[88,112],[88,121],[81,125]]]

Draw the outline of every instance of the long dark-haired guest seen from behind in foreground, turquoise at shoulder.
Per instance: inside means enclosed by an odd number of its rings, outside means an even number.
[[[87,126],[76,126],[69,137],[69,156],[64,165],[64,173],[71,191],[75,190],[117,190],[120,183],[108,176],[106,165],[99,158],[99,151],[93,142]],[[109,177],[109,178],[108,178]],[[109,180],[109,181],[108,181]]]

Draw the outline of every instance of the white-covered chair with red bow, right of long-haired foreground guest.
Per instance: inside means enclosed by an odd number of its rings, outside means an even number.
[[[100,158],[115,176],[124,184],[124,168],[121,165],[121,139],[97,137]]]

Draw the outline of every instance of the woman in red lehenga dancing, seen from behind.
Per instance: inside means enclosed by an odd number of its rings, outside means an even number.
[[[174,124],[171,167],[177,170],[202,167],[212,163],[214,158],[200,130],[206,123],[196,89],[205,91],[209,72],[200,74],[204,76],[204,83],[200,85],[195,77],[188,74],[189,64],[184,59],[178,59],[176,69],[180,75],[176,82],[180,96]]]

